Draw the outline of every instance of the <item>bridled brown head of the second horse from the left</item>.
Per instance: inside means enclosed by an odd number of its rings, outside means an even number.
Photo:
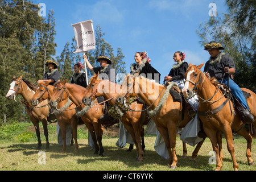
[[[48,90],[48,82],[39,82],[38,88],[36,89],[36,92],[34,96],[31,98],[31,104],[32,105],[38,105],[39,102],[42,102],[49,98],[49,90]]]

